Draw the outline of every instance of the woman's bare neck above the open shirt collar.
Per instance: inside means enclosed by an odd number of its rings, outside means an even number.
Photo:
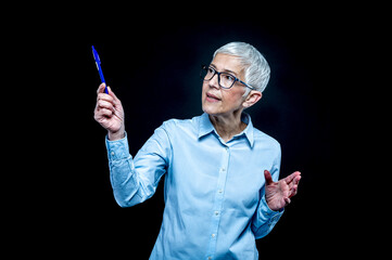
[[[242,110],[231,115],[210,115],[211,122],[225,142],[230,141],[232,136],[246,128],[246,123],[241,121],[241,113]]]

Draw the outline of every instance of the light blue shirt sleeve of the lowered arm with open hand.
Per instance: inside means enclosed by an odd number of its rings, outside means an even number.
[[[275,158],[273,168],[269,170],[273,177],[273,180],[276,182],[279,179],[279,169],[280,169],[280,145],[278,148],[278,154]],[[258,203],[255,214],[252,219],[252,231],[256,239],[266,236],[278,223],[280,217],[283,214],[284,209],[279,211],[271,210],[265,199],[265,186],[260,191],[261,200]]]

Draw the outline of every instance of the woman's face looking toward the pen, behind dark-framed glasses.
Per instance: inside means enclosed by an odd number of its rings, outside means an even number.
[[[244,79],[244,72],[238,57],[218,53],[211,63],[219,73],[229,73],[238,79]],[[230,115],[241,112],[244,106],[245,87],[236,82],[230,89],[223,89],[218,84],[218,77],[215,75],[211,80],[203,81],[202,107],[208,115]]]

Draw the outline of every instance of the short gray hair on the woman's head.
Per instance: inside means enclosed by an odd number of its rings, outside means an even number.
[[[213,58],[218,53],[238,56],[245,69],[244,81],[255,90],[264,91],[269,80],[270,68],[265,57],[256,48],[245,42],[235,41],[217,49],[214,52]]]

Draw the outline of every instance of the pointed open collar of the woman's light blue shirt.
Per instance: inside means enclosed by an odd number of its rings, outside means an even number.
[[[244,134],[249,141],[249,144],[251,145],[251,147],[253,147],[254,144],[254,139],[253,139],[253,123],[251,120],[251,116],[246,113],[242,113],[241,115],[241,120],[246,123],[246,128],[238,135],[242,135]],[[214,131],[214,126],[210,120],[208,114],[204,113],[199,120],[199,139],[211,133],[212,131]]]

